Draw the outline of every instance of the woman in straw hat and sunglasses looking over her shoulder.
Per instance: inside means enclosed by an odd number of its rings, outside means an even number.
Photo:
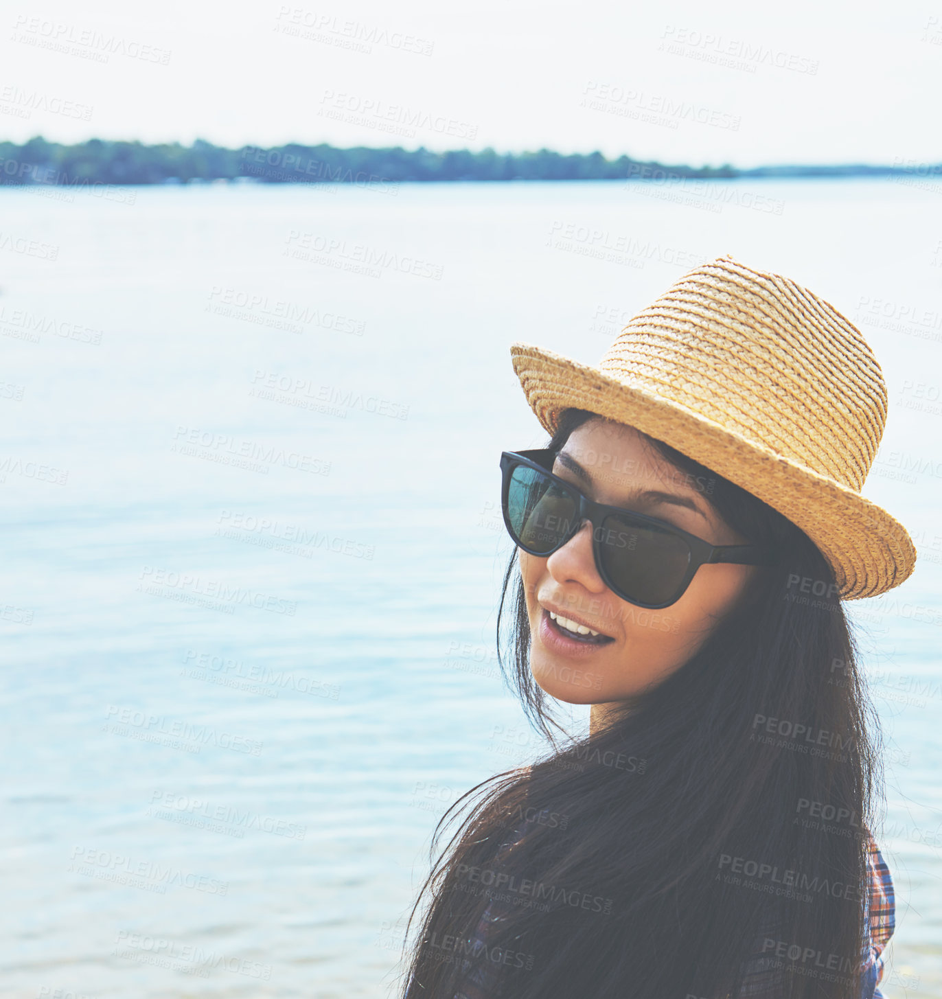
[[[597,368],[510,350],[550,441],[501,456],[497,637],[509,597],[550,750],[459,803],[404,996],[880,996],[878,727],[840,601],[915,549],[860,496],[886,414],[869,347],[724,257]],[[560,739],[548,698],[591,704],[588,736]]]

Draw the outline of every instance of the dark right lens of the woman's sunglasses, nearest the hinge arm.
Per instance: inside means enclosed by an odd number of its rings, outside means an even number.
[[[627,516],[606,516],[597,532],[605,571],[628,600],[667,603],[690,564],[690,548],[678,534]]]

